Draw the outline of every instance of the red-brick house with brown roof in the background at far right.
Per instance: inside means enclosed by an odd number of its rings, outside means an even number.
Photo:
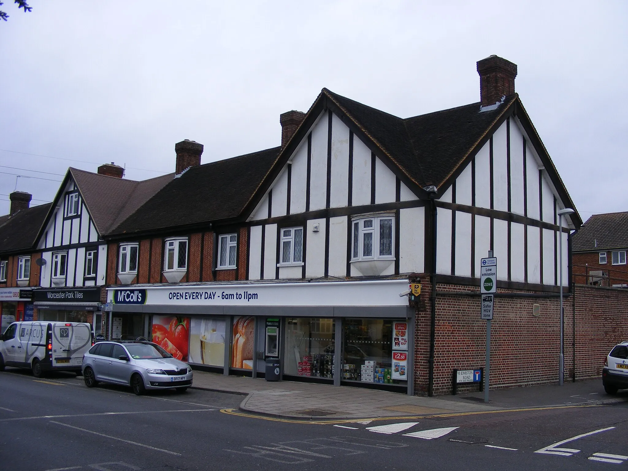
[[[573,280],[628,288],[628,212],[594,214],[571,240]]]

